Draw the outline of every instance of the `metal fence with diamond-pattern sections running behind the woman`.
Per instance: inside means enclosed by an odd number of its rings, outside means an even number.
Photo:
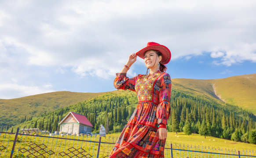
[[[0,132],[0,158],[107,158],[117,138]],[[166,144],[165,158],[256,158],[253,150]]]

